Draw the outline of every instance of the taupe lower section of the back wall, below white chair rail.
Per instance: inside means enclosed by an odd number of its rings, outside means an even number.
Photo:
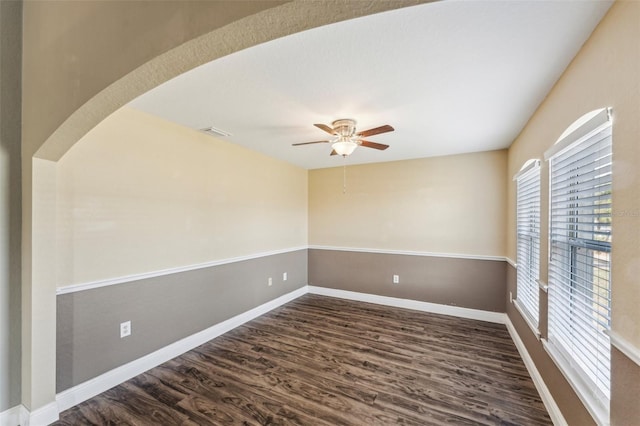
[[[500,260],[309,250],[309,285],[505,312]],[[393,284],[393,275],[400,283]]]

